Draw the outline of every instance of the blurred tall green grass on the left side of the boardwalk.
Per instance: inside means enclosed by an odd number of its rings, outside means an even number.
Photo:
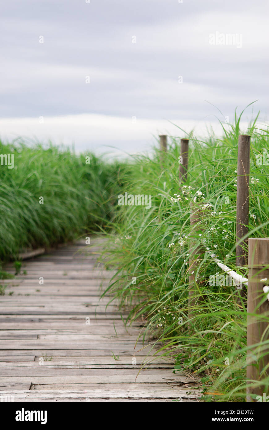
[[[0,143],[0,154],[14,155],[13,169],[0,166],[0,260],[105,228],[113,216],[120,163],[19,141]]]

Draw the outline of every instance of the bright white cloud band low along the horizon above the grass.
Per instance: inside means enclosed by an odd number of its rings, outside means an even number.
[[[221,135],[219,123],[209,121],[172,121],[111,117],[105,115],[67,115],[60,117],[45,117],[44,123],[38,118],[1,118],[1,139],[13,140],[28,138],[46,143],[51,139],[56,144],[71,146],[75,144],[76,152],[97,151],[97,153],[111,152],[113,154],[150,151],[156,144],[155,137],[167,134],[174,137],[185,137],[177,127],[190,132],[193,128],[197,136],[208,135],[211,128],[217,135]],[[242,123],[242,128],[247,124]],[[155,137],[154,137],[155,136]],[[110,147],[114,147],[114,149]]]

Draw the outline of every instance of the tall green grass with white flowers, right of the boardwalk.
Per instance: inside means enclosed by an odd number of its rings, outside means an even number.
[[[150,194],[152,207],[119,206],[105,250],[108,264],[117,269],[108,290],[116,293],[122,306],[130,305],[128,321],[147,316],[153,344],[164,355],[173,354],[175,372],[194,372],[201,377],[206,401],[245,401],[247,310],[243,301],[236,303],[234,286],[209,284],[210,275],[223,273],[210,257],[212,252],[248,276],[247,267],[235,267],[239,121],[235,117],[233,126],[223,127],[223,138],[211,135],[199,140],[181,132],[181,137],[190,138],[188,181],[184,184],[178,178],[178,139],[170,139],[166,154],[156,149],[153,157],[133,157],[131,175],[122,178],[117,194]],[[269,131],[255,128],[253,123],[244,134],[251,135],[249,236],[269,237],[269,167],[256,163],[256,155],[268,152]],[[205,208],[199,231],[190,227],[193,200],[196,208]],[[190,238],[206,248],[196,271],[198,293],[191,320]],[[203,301],[198,300],[200,295]],[[261,342],[259,347],[265,345]],[[265,370],[260,378],[268,389]]]

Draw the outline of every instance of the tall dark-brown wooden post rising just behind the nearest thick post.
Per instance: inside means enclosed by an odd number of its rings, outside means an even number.
[[[249,212],[249,157],[250,139],[248,135],[240,135],[238,138],[237,156],[237,193],[236,193],[236,240],[237,242],[248,233]],[[235,249],[235,264],[246,266],[248,264],[248,252],[246,251],[248,241],[245,239],[237,244]],[[245,286],[238,294],[240,297],[246,295]]]

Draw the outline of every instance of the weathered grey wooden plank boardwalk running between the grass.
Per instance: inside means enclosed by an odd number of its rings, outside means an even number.
[[[24,261],[20,275],[0,281],[6,285],[0,295],[0,397],[198,401],[192,378],[174,375],[167,360],[153,361],[152,345],[135,345],[141,324],[125,329],[116,304],[108,304],[110,297],[100,300],[100,287],[108,285],[111,272],[96,267],[97,253],[96,246],[86,251],[78,242]],[[14,273],[12,264],[6,270]],[[138,375],[144,360],[149,364]]]

